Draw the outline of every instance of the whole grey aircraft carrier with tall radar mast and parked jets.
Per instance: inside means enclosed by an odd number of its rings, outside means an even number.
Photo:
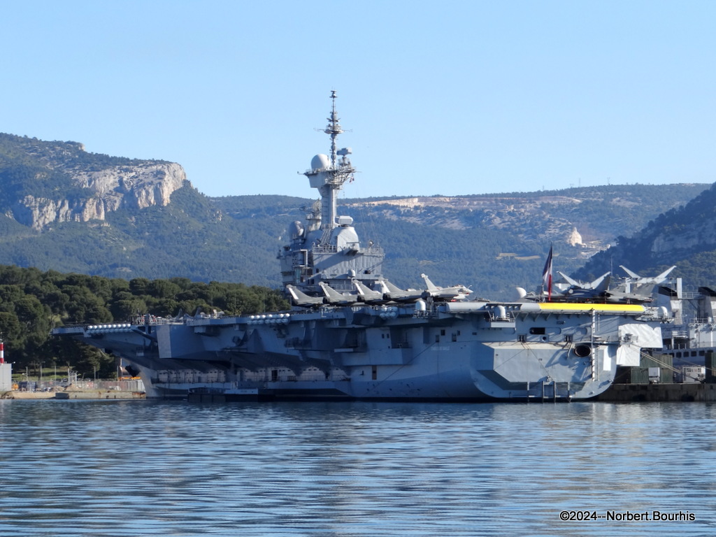
[[[354,179],[332,92],[328,155],[306,170],[320,200],[289,223],[279,251],[289,311],[221,312],[53,330],[121,357],[147,397],[198,400],[577,400],[661,349],[667,311],[635,296],[566,284],[520,301],[471,299],[470,290],[400,289],[382,274],[384,251],[364,243],[337,193]],[[576,282],[575,282],[576,284]],[[575,292],[577,291],[577,292]],[[591,291],[591,292],[590,292]]]

